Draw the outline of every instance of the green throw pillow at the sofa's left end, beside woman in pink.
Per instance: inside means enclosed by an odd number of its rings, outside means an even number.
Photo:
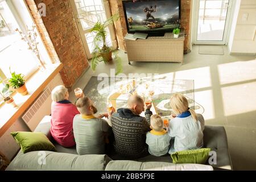
[[[43,133],[20,131],[12,132],[11,135],[19,143],[23,153],[39,150],[56,151],[55,146]]]

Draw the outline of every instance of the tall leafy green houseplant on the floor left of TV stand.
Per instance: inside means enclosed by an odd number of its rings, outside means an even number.
[[[115,14],[111,16],[109,19],[107,19],[105,22],[97,22],[92,29],[90,29],[89,32],[93,32],[96,34],[93,39],[93,52],[92,52],[92,61],[91,61],[91,67],[93,71],[95,71],[98,63],[101,61],[104,61],[104,63],[111,63],[112,62],[112,53],[113,48],[108,46],[108,42],[106,40],[106,36],[108,35],[108,32],[106,31],[106,27],[108,27],[110,24],[113,24],[115,21],[117,21],[119,18],[118,14]],[[122,64],[121,59],[117,54],[113,53],[115,56],[115,64],[116,64],[116,70],[115,75],[122,72]]]

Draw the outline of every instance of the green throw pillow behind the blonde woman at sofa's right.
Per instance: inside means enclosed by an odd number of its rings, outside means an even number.
[[[172,163],[193,163],[205,164],[209,157],[210,148],[200,148],[196,150],[184,150],[171,154]]]

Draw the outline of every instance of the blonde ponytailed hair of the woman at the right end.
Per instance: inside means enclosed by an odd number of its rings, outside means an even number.
[[[195,121],[197,121],[196,113],[188,107],[188,100],[181,93],[175,93],[170,99],[170,106],[176,115],[185,111],[189,111]]]

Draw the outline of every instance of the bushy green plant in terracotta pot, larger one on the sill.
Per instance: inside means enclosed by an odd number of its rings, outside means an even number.
[[[27,87],[25,85],[25,79],[24,76],[19,73],[16,74],[15,72],[11,72],[11,78],[9,79],[11,87],[13,87],[18,93],[22,94],[22,96],[25,96],[27,94]]]

